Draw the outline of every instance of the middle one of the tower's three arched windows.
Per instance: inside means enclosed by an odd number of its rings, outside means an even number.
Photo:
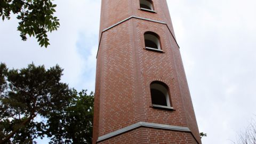
[[[161,50],[159,36],[156,33],[147,31],[144,34],[144,39],[146,48]]]

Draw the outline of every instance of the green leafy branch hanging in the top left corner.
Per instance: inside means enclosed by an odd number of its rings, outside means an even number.
[[[60,26],[59,19],[53,17],[56,6],[51,0],[1,0],[0,18],[9,20],[11,12],[18,14],[21,39],[26,41],[26,35],[34,36],[41,47],[47,47],[50,45],[47,32]]]

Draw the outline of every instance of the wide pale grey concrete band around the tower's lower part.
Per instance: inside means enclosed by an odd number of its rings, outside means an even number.
[[[183,131],[183,132],[190,132],[188,127],[183,127],[183,126],[174,126],[174,125],[165,125],[165,124],[156,124],[156,123],[147,123],[147,122],[138,122],[129,126],[124,127],[123,129],[119,129],[114,132],[110,132],[108,134],[102,135],[101,137],[98,138],[97,142],[100,142],[102,140],[106,140],[108,138],[114,137],[118,134],[125,133],[127,131],[136,129],[138,127],[151,127],[155,129],[164,129],[164,130],[173,130],[173,131]]]

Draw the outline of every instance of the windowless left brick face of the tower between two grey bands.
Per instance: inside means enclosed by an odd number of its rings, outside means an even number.
[[[103,33],[98,57],[102,59],[99,134],[107,134],[135,121],[135,83],[131,58],[130,22]],[[129,34],[130,33],[130,34]],[[127,42],[128,41],[128,42]]]

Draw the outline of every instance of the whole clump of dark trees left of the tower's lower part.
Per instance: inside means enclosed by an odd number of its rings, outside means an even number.
[[[0,143],[91,143],[93,93],[61,83],[58,65],[48,70],[0,65]]]

